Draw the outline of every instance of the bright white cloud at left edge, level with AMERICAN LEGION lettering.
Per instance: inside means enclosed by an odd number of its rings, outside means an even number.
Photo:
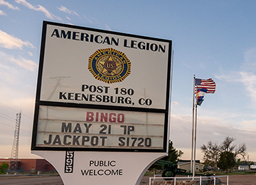
[[[34,47],[28,41],[24,42],[19,38],[15,38],[4,31],[0,30],[0,47],[5,47],[7,49],[15,49],[19,48],[22,49],[23,45],[28,47]]]

